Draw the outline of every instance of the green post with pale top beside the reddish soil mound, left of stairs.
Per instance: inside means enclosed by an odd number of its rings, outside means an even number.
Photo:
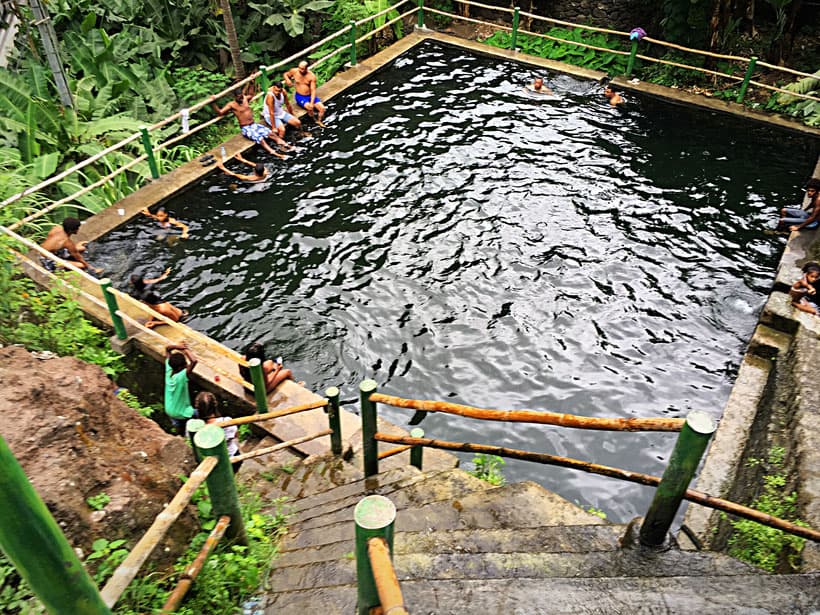
[[[239,496],[236,493],[233,467],[231,467],[228,447],[225,444],[225,432],[215,423],[205,425],[194,436],[194,446],[203,459],[205,457],[219,459],[219,463],[205,479],[214,517],[218,519],[222,515],[228,515],[231,518],[231,524],[226,532],[228,538],[243,545],[248,544],[242,511],[239,509]]]

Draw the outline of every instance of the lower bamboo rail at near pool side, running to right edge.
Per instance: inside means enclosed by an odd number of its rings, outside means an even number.
[[[431,438],[413,438],[411,436],[393,436],[385,433],[376,433],[374,436],[381,442],[392,442],[393,444],[407,444],[410,446],[428,446],[430,448],[440,448],[448,451],[463,451],[468,453],[483,453],[485,455],[498,455],[499,457],[509,457],[511,459],[523,459],[525,461],[535,461],[537,463],[544,463],[548,465],[561,466],[571,468],[573,470],[582,470],[591,474],[600,474],[601,476],[609,476],[610,478],[618,478],[639,485],[649,485],[657,487],[661,479],[657,476],[649,474],[642,474],[640,472],[630,472],[629,470],[621,470],[620,468],[613,468],[611,466],[604,466],[570,457],[558,457],[556,455],[548,455],[546,453],[532,453],[529,451],[521,451],[502,446],[489,446],[486,444],[472,444],[469,442],[448,442],[446,440],[434,440]],[[755,521],[762,525],[774,527],[789,534],[800,536],[814,542],[820,542],[820,531],[812,528],[803,527],[780,519],[773,515],[769,515],[754,508],[743,506],[735,502],[730,502],[722,498],[716,498],[696,491],[695,489],[687,489],[684,498],[690,502],[695,502],[708,508],[722,510],[724,512],[733,514],[744,519]]]

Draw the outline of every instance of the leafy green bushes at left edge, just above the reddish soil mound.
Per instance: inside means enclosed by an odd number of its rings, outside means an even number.
[[[74,293],[62,284],[38,289],[17,268],[10,239],[0,239],[0,341],[29,350],[74,355],[114,376],[125,368],[108,337],[83,316]],[[64,273],[70,281],[76,274]]]

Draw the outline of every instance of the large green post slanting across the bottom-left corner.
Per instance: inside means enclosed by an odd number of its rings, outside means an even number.
[[[0,547],[49,613],[110,615],[91,577],[2,437]]]

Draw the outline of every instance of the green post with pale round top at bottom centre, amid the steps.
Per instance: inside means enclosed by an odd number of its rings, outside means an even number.
[[[356,608],[358,615],[368,615],[371,608],[380,606],[380,601],[367,555],[367,541],[371,538],[384,538],[390,547],[392,559],[396,506],[383,495],[368,495],[356,504],[353,519],[356,521]]]

